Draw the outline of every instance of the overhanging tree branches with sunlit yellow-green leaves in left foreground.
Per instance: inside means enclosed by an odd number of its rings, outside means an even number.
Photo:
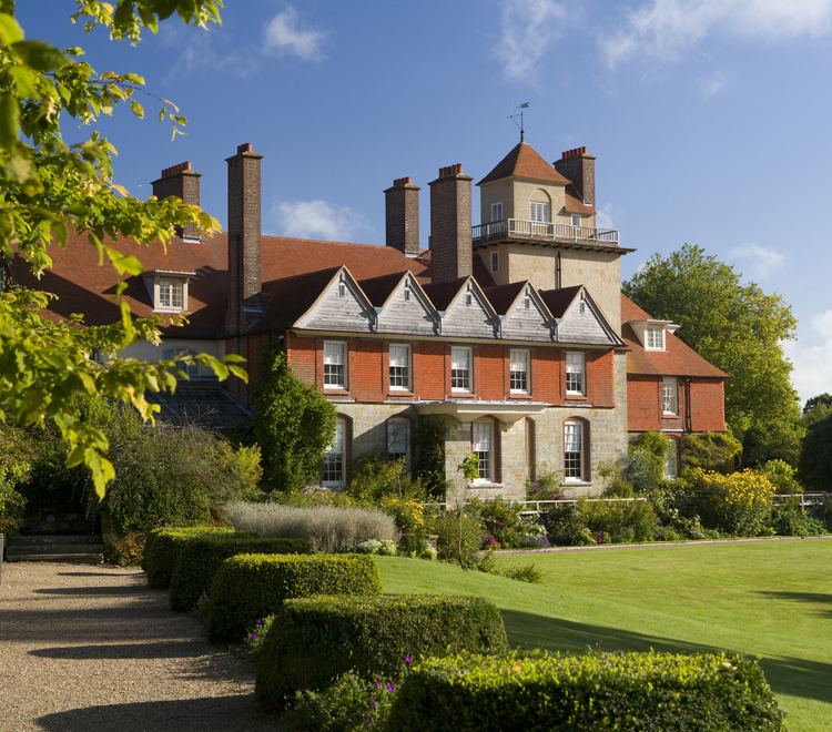
[[[155,32],[174,13],[191,26],[219,22],[221,6],[222,0],[75,0],[72,21],[82,21],[88,32],[103,27],[114,41],[138,43],[144,30]],[[75,230],[120,275],[136,275],[139,260],[109,242],[128,236],[139,244],[166,245],[176,226],[193,223],[212,231],[217,223],[175,197],[130,196],[113,180],[115,148],[94,129],[81,142],[64,142],[62,123],[92,128],[120,104],[143,118],[141,94],[159,102],[159,118],[172,123],[174,136],[185,124],[175,104],[143,91],[139,74],[99,73],[82,57],[80,48],[62,51],[27,39],[14,18],[14,1],[0,0],[0,265],[20,256],[40,276],[51,264],[50,247],[65,245],[68,232]],[[105,457],[106,436],[73,409],[73,396],[116,399],[152,419],[158,407],[145,393],[174,390],[176,377],[186,377],[182,367],[194,358],[220,378],[245,376],[234,357],[220,362],[203,354],[155,364],[119,358],[135,340],[159,343],[161,324],[134,318],[122,292],[116,294],[120,322],[82,328],[81,318],[44,318],[51,296],[14,287],[0,274],[0,421],[57,425],[68,443],[67,465],[87,465],[100,497],[114,475]],[[93,349],[110,360],[92,360]]]

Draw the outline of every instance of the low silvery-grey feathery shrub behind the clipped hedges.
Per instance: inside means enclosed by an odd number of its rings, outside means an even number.
[[[378,509],[240,501],[226,507],[225,518],[258,536],[305,539],[313,551],[351,551],[368,539],[398,540],[393,517]]]

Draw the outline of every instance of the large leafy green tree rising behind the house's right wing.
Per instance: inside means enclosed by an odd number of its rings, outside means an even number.
[[[678,323],[679,337],[730,375],[726,420],[743,444],[743,462],[795,462],[800,406],[780,344],[795,337],[797,321],[780,295],[743,284],[733,267],[690,244],[655,254],[622,289],[653,317]]]

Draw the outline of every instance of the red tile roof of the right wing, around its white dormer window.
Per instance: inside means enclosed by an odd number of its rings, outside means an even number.
[[[664,334],[664,350],[646,350],[628,325],[629,321],[652,319],[626,295],[621,295],[621,337],[630,347],[627,373],[642,376],[694,376],[728,378],[726,372],[707,362],[672,333]]]

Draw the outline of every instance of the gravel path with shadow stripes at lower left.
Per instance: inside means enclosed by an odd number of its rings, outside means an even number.
[[[278,729],[247,659],[138,570],[16,562],[0,584],[0,730]]]

